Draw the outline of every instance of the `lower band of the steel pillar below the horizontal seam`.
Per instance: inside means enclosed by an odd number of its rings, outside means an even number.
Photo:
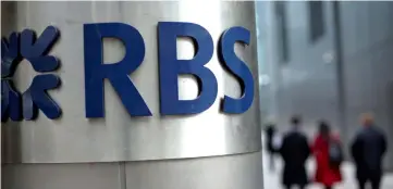
[[[5,164],[3,189],[185,189],[191,186],[263,189],[261,154],[176,161]]]

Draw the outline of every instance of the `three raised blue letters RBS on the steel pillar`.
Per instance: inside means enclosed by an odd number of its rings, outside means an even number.
[[[115,64],[102,63],[102,39],[116,38],[125,46],[125,56]],[[196,43],[192,60],[177,60],[176,38],[189,37]],[[219,41],[219,59],[242,86],[242,98],[225,96],[224,113],[240,114],[249,109],[254,99],[254,79],[247,65],[234,52],[235,42],[249,43],[250,33],[243,27],[225,30]],[[151,116],[151,112],[131,81],[145,56],[145,42],[139,32],[122,23],[84,25],[86,117],[103,117],[103,79],[108,78],[132,116]],[[207,29],[193,23],[158,23],[158,62],[161,115],[197,114],[209,109],[218,93],[214,74],[205,67],[212,58],[213,40]],[[177,76],[192,74],[198,78],[199,96],[194,100],[179,100]]]

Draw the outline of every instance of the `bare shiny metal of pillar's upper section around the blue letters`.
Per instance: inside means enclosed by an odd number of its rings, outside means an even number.
[[[2,125],[3,154],[7,163],[112,162],[185,159],[254,152],[260,150],[258,66],[254,2],[21,2],[10,26],[2,34],[26,26],[37,33],[47,25],[61,30],[61,38],[50,54],[62,66],[58,71],[62,87],[48,91],[62,108],[59,119],[39,114],[35,122],[8,122]],[[210,33],[214,48],[223,30],[242,26],[250,30],[250,43],[234,48],[249,67],[254,84],[253,105],[243,114],[221,113],[221,98],[240,98],[241,86],[225,72],[216,51],[206,67],[214,74],[218,96],[207,111],[185,116],[160,116],[157,23],[189,22]],[[145,40],[143,64],[130,77],[152,113],[150,117],[131,117],[116,92],[105,80],[105,118],[85,117],[83,24],[120,22],[136,27]],[[17,27],[16,27],[17,26]],[[124,52],[113,40],[103,41],[103,60],[122,60]],[[111,49],[118,47],[116,49]],[[193,49],[177,47],[177,56]],[[14,76],[19,84],[32,80],[29,71]],[[179,98],[193,99],[195,80],[179,77]],[[163,99],[164,100],[164,99]]]

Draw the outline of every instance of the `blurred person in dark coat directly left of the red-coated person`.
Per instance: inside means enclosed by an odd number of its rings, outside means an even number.
[[[307,137],[300,133],[300,122],[299,117],[292,117],[293,128],[284,136],[280,149],[280,154],[284,161],[282,182],[287,189],[293,186],[303,189],[308,184],[305,164],[310,155],[310,148]]]

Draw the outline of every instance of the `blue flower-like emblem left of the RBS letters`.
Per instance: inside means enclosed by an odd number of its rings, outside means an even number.
[[[57,41],[59,32],[49,26],[36,39],[36,34],[25,29],[22,34],[12,33],[9,40],[1,40],[1,121],[8,117],[13,121],[34,119],[38,109],[49,118],[61,115],[59,105],[46,93],[57,88],[60,78],[54,74],[42,74],[34,77],[32,85],[22,94],[13,87],[12,76],[16,65],[26,59],[36,72],[46,73],[59,67],[59,60],[47,55]]]

